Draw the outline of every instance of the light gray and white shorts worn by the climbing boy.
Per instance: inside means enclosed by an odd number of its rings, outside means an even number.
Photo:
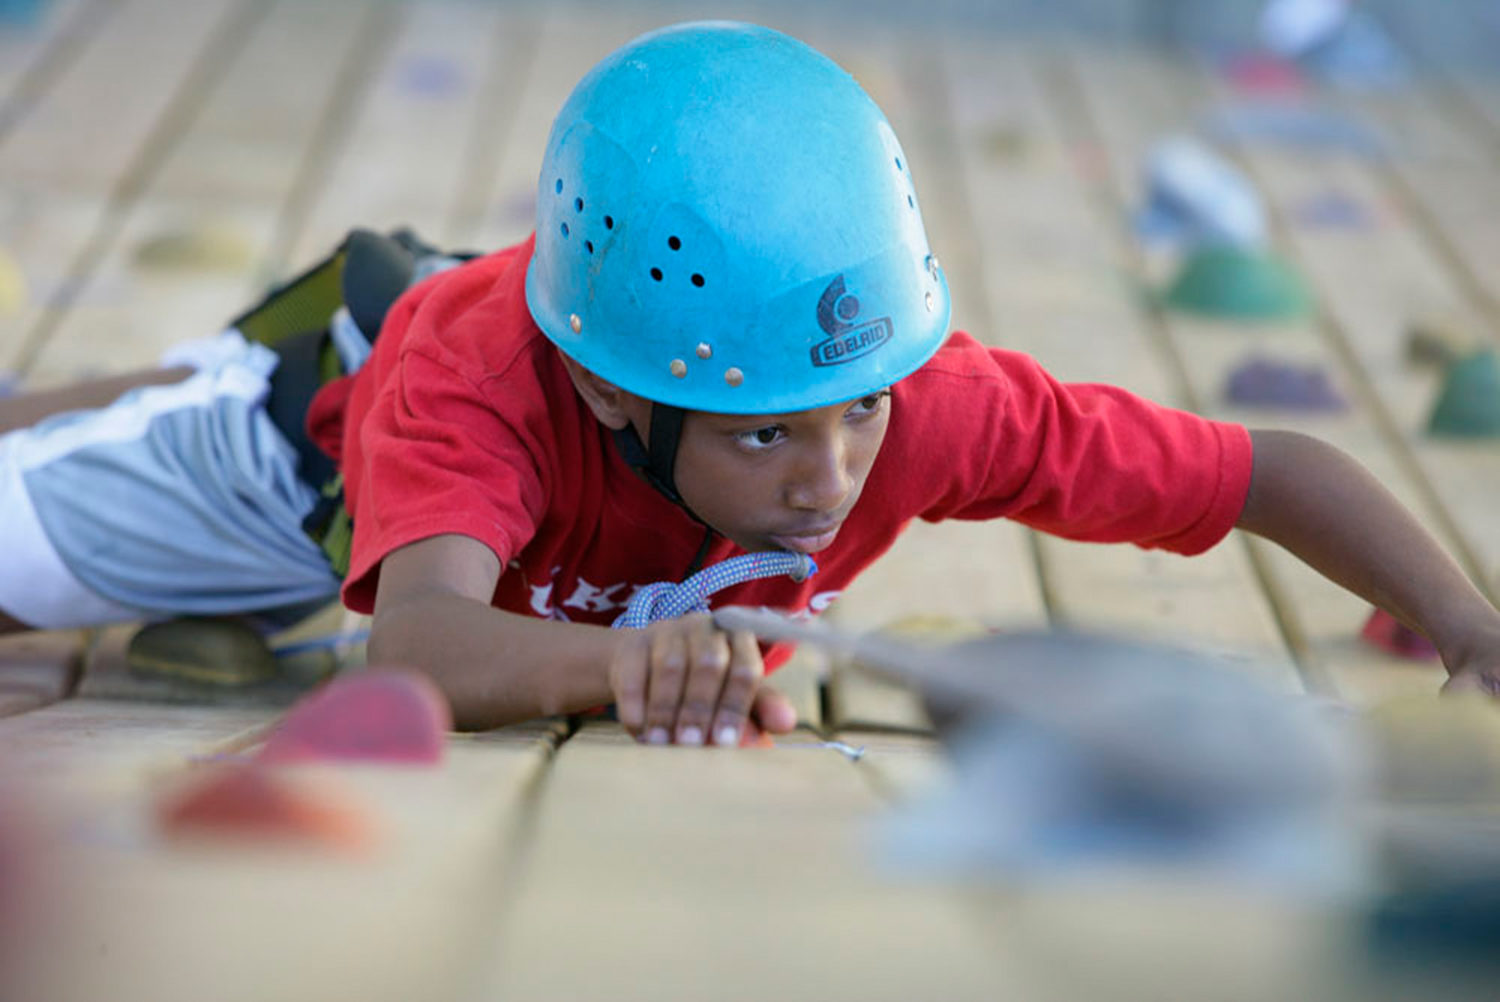
[[[182,382],[0,436],[0,610],[44,628],[288,620],[338,596],[302,531],[316,490],[264,410],[276,356],[237,332],[212,348]]]

